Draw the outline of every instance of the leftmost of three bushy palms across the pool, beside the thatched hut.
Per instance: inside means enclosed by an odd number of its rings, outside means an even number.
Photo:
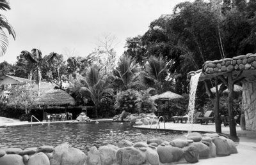
[[[106,76],[101,72],[101,67],[93,64],[87,69],[86,77],[81,79],[80,82],[84,85],[79,92],[82,97],[91,99],[95,105],[95,117],[98,117],[98,106],[100,99],[105,94],[113,95],[113,89],[108,87],[106,83]]]

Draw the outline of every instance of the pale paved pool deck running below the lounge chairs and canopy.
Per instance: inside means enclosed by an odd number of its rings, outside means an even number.
[[[205,124],[181,124],[181,123],[173,123],[166,122],[165,124],[161,122],[159,124],[160,129],[165,130],[174,130],[174,131],[198,131],[198,132],[215,132],[215,124],[209,123]],[[134,126],[139,129],[159,129],[159,126]],[[229,164],[243,164],[243,165],[251,165],[256,164],[256,131],[246,131],[242,130],[240,126],[236,126],[237,136],[239,138],[239,143],[236,143],[238,154],[232,154],[227,157],[216,157],[210,159],[200,159],[199,162],[194,163],[196,165],[229,165]],[[223,134],[230,134],[229,127],[221,126],[221,132]],[[187,164],[187,163],[186,163]]]

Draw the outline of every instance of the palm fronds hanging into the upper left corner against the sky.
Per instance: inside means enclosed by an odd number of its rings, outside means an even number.
[[[0,9],[1,10],[11,10],[8,1],[0,0]],[[10,25],[4,15],[0,14],[0,56],[6,53],[8,47],[8,37],[6,36],[3,29],[7,29],[9,34],[12,34],[14,40],[16,38],[15,31],[13,30],[12,25]]]

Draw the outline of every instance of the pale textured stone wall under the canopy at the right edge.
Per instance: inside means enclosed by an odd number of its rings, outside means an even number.
[[[243,111],[246,130],[256,131],[256,81],[243,82]]]

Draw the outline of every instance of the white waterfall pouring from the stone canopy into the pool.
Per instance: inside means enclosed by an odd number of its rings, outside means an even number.
[[[195,111],[196,89],[197,89],[198,80],[199,80],[200,75],[201,75],[201,72],[197,73],[194,76],[191,76],[191,79],[190,79],[189,104],[188,104],[188,116],[189,116],[188,134],[191,133],[191,131],[193,129],[193,117],[194,117],[194,111]]]

